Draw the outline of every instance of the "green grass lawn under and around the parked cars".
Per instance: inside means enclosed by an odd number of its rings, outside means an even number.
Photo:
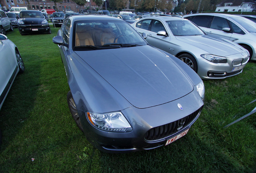
[[[166,147],[127,154],[95,149],[68,109],[64,66],[52,34],[7,32],[21,53],[19,74],[0,111],[0,173],[212,173],[256,171],[256,63],[242,74],[204,80],[204,109],[188,134]],[[31,161],[35,158],[35,161]]]

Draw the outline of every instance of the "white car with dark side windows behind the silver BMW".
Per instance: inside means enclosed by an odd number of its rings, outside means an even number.
[[[198,25],[204,32],[231,40],[250,53],[256,60],[256,23],[233,14],[198,13],[183,16]]]

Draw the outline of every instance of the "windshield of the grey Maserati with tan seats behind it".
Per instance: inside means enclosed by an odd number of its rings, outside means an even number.
[[[124,48],[147,45],[147,42],[124,21],[84,20],[74,23],[74,48]]]

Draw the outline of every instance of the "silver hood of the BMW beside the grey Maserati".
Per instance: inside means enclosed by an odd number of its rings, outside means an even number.
[[[231,54],[245,52],[244,48],[238,44],[223,38],[216,38],[215,36],[176,36],[176,38],[217,56],[229,56]]]

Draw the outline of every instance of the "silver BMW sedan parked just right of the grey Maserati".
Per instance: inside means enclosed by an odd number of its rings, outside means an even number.
[[[148,35],[149,44],[178,57],[202,79],[239,74],[249,60],[242,46],[208,36],[186,19],[156,16],[140,19],[132,26]]]

